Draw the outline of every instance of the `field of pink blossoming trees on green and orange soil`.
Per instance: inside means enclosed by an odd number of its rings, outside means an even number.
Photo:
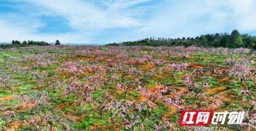
[[[193,130],[182,110],[246,111],[255,130],[255,51],[35,46],[0,50],[0,130]]]

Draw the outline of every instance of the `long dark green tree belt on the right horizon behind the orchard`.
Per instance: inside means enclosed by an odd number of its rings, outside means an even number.
[[[238,30],[233,30],[231,34],[216,33],[201,35],[195,38],[146,38],[144,40],[127,41],[122,43],[110,43],[107,45],[147,45],[147,46],[203,46],[203,47],[249,47],[256,48],[256,37],[248,34],[240,34]]]

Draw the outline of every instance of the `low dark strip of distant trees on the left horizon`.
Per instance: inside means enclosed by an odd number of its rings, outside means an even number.
[[[11,48],[11,47],[25,47],[25,46],[46,46],[46,45],[51,45],[45,41],[33,41],[33,40],[28,40],[28,41],[23,41],[20,42],[18,40],[13,40],[11,44],[2,44],[0,45],[0,48]],[[60,45],[59,40],[56,40],[55,45]]]

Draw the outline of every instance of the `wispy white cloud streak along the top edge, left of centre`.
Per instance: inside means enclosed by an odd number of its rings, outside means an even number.
[[[140,20],[131,13],[137,8],[131,10],[127,8],[148,1],[100,1],[101,5],[96,5],[81,0],[26,0],[44,9],[47,13],[66,17],[71,27],[82,31],[138,27]],[[102,8],[102,5],[106,8]]]

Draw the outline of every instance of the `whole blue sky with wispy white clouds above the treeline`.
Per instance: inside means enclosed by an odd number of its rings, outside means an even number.
[[[256,0],[0,0],[0,42],[110,43],[208,33],[256,35]]]

